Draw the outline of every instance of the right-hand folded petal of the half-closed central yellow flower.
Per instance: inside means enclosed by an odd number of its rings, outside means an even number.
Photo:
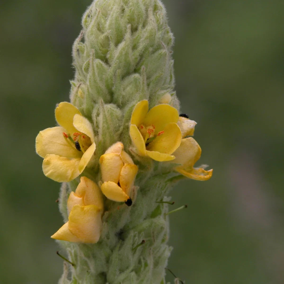
[[[138,167],[133,164],[125,164],[120,172],[119,183],[122,190],[129,196],[134,185]]]

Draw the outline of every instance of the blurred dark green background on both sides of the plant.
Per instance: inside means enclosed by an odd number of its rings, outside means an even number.
[[[71,47],[91,0],[3,1],[0,283],[57,283],[59,184],[34,144],[68,100]],[[284,283],[284,1],[164,0],[181,110],[210,181],[172,191],[168,267],[186,283]],[[167,276],[173,283],[173,277]]]

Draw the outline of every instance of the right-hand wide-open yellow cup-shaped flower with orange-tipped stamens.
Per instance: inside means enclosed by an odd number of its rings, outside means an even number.
[[[172,153],[181,143],[178,111],[166,104],[154,106],[149,112],[148,109],[147,100],[135,106],[131,116],[131,140],[141,156],[159,162],[173,160]]]

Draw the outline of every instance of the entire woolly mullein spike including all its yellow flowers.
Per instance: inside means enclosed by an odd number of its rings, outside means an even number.
[[[65,181],[65,224],[52,237],[73,265],[59,283],[164,284],[169,205],[157,201],[183,177],[212,175],[193,168],[201,149],[187,137],[196,122],[179,117],[166,10],[160,0],[95,0],[82,26],[72,105],[60,103],[60,126],[36,138],[44,174]]]

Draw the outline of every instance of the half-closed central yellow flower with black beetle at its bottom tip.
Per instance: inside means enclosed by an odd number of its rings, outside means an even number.
[[[134,185],[138,167],[123,151],[123,144],[112,145],[100,158],[103,184],[101,190],[110,200],[125,202],[131,206],[130,193]]]

